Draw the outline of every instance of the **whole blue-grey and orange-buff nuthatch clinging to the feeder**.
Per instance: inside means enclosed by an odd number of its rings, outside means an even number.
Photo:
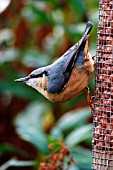
[[[94,61],[88,49],[92,27],[89,21],[82,38],[53,64],[38,68],[16,81],[25,82],[54,102],[68,101],[86,91],[94,70]]]

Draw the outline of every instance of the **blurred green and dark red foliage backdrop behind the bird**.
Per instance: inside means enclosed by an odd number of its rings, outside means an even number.
[[[70,170],[91,169],[92,116],[86,94],[51,103],[14,82],[55,61],[82,36],[87,21],[96,54],[98,0],[1,0],[0,2],[0,165],[38,169],[48,145],[62,141],[77,161]],[[90,82],[94,94],[94,76]],[[8,162],[9,161],[9,162]]]

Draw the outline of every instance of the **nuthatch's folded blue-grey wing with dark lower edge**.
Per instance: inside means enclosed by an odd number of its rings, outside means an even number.
[[[77,46],[68,50],[57,62],[48,69],[47,91],[51,94],[58,94],[62,91],[74,67]]]

